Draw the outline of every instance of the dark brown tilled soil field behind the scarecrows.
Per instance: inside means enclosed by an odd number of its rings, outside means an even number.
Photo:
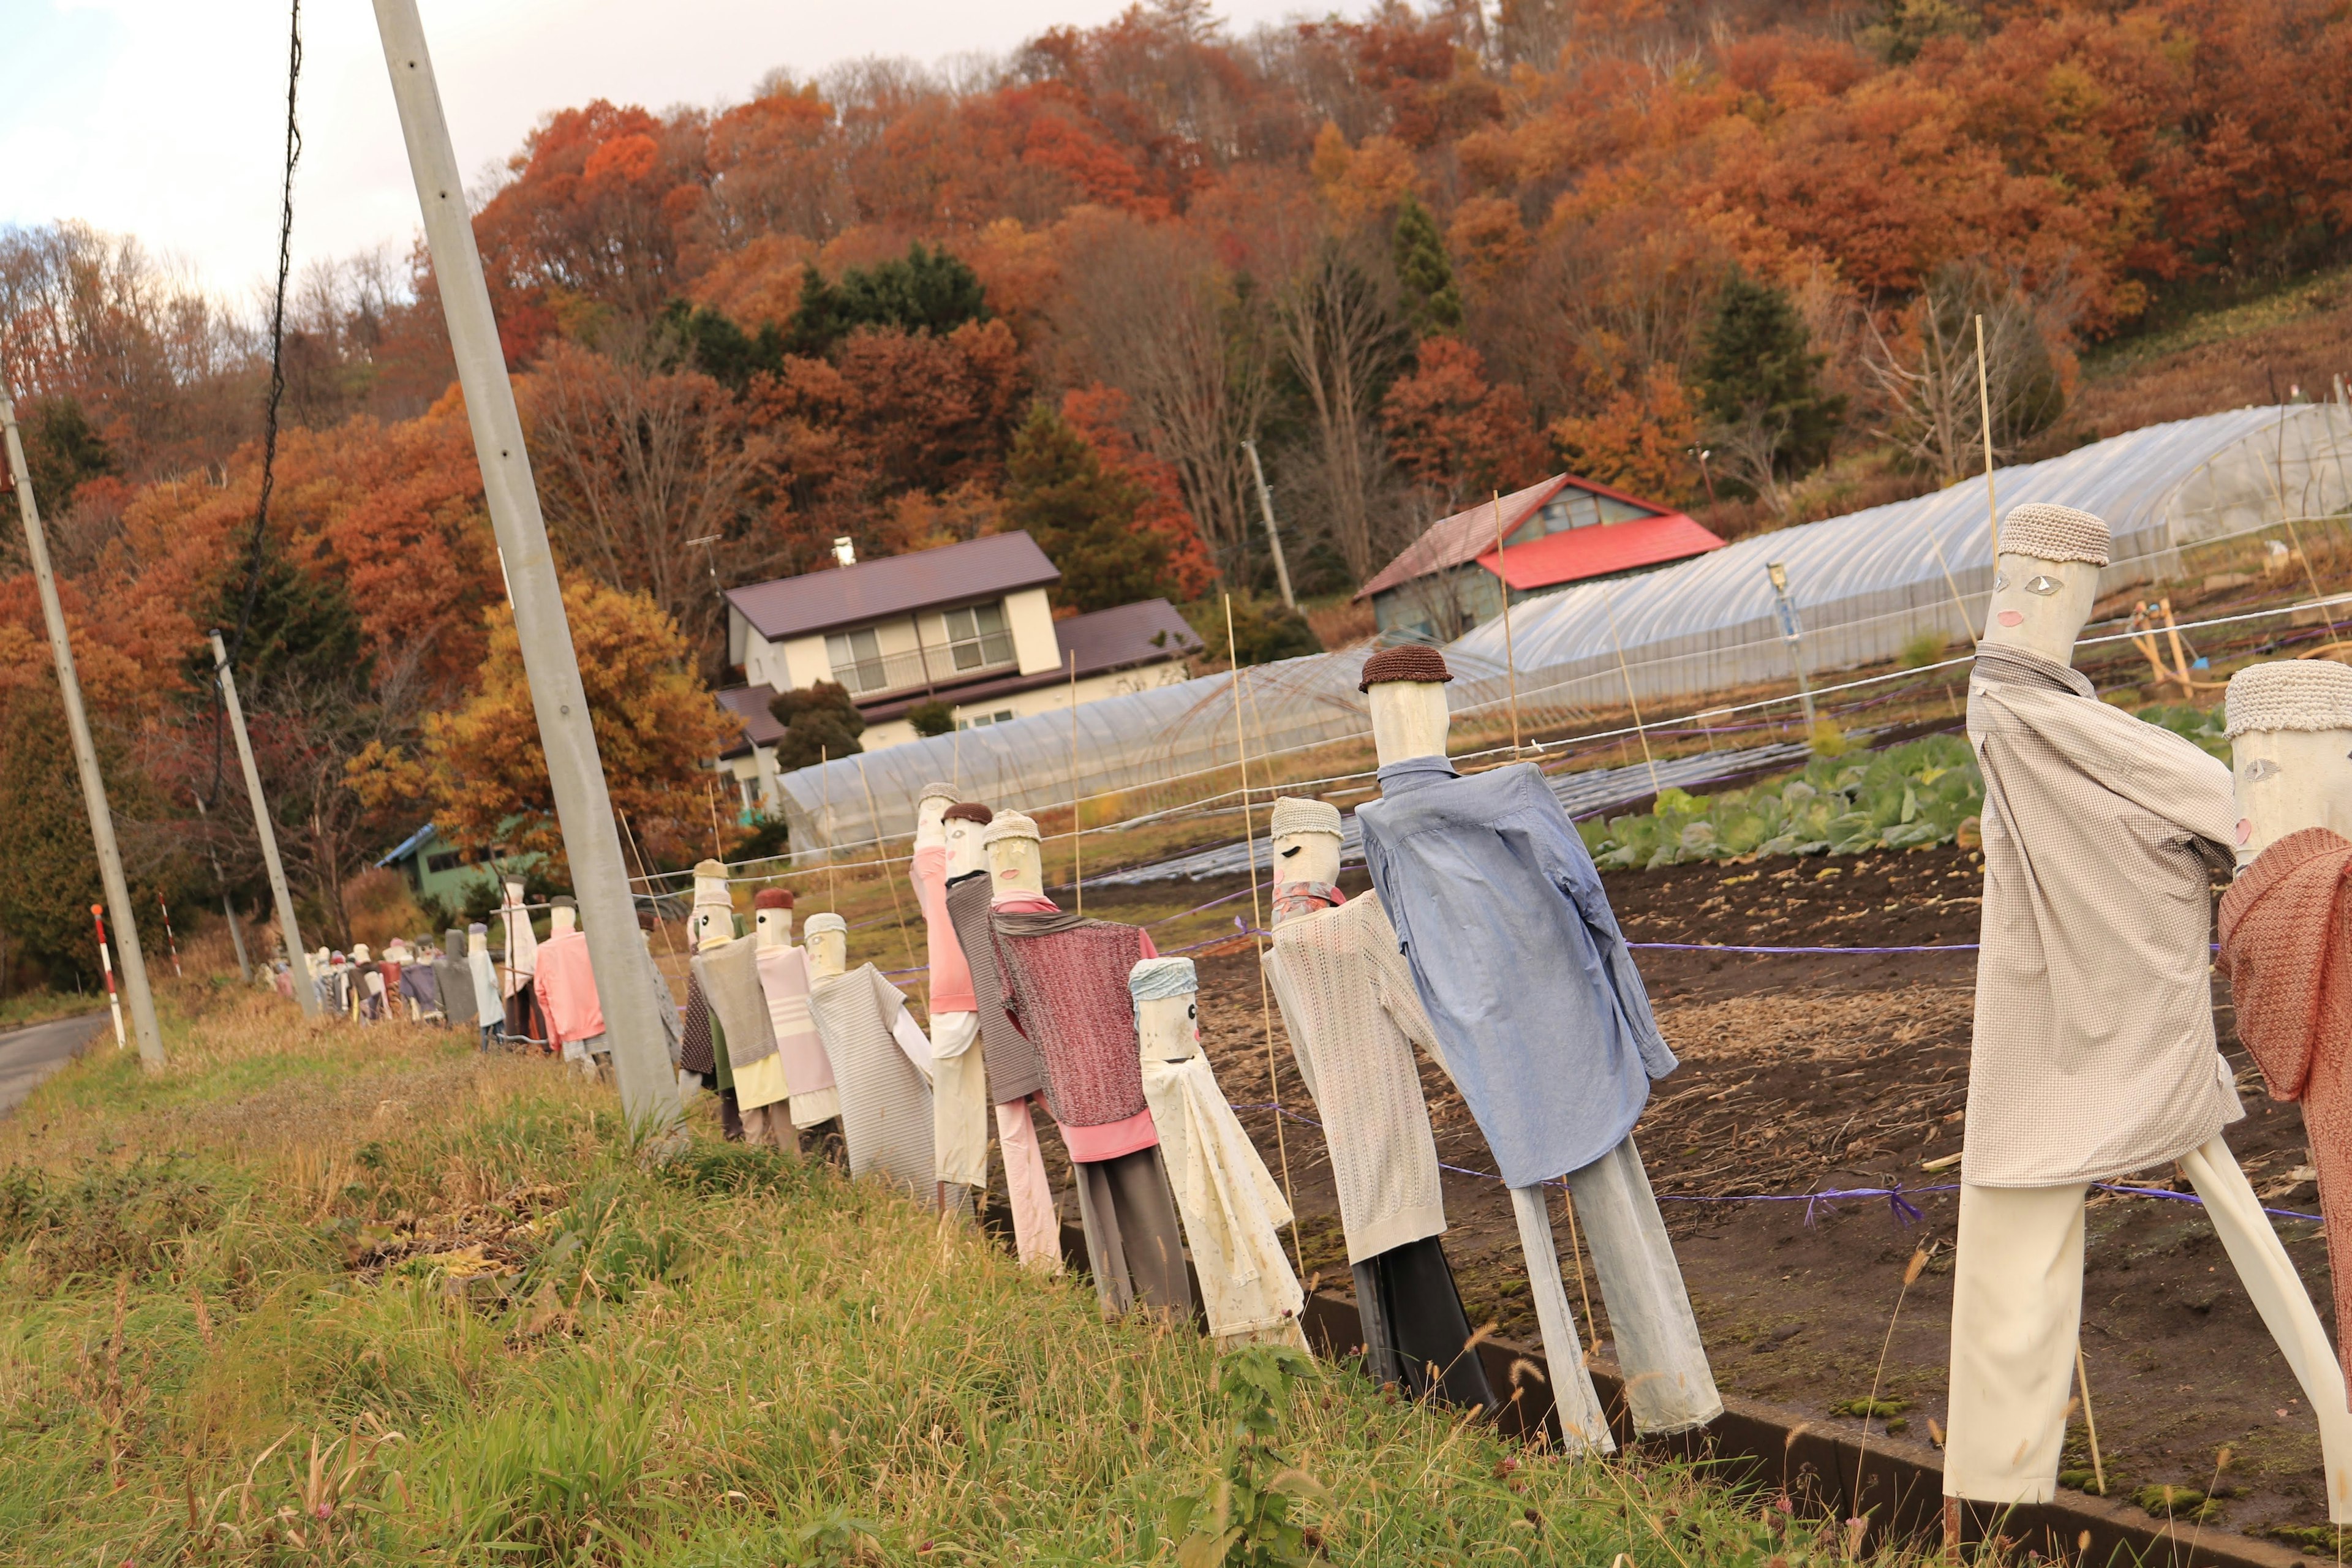
[[[1973,856],[1936,849],[1623,872],[1609,877],[1609,896],[1635,943],[1929,947],[1976,940],[1978,882]],[[1350,872],[1345,886],[1359,891],[1362,872]],[[1216,891],[1223,889],[1188,884],[1197,898]],[[1976,952],[1646,947],[1637,959],[1682,1067],[1656,1086],[1635,1135],[1717,1380],[1726,1392],[1818,1425],[1858,1427],[1839,1406],[1870,1394],[1886,1345],[1879,1399],[1900,1401],[1900,1410],[1872,1429],[1933,1439],[1945,1418],[1957,1218],[1950,1157],[1959,1154],[1966,1103]],[[1277,1143],[1254,961],[1247,952],[1211,950],[1200,971],[1202,1034],[1225,1095],[1268,1166],[1287,1159],[1308,1272],[1345,1293],[1350,1276],[1322,1133],[1279,1013],[1272,1056],[1289,1114]],[[2263,1098],[2260,1077],[2230,1030],[2220,983],[2216,1020],[2249,1110],[2230,1128],[2230,1147],[2267,1204],[2312,1213],[2317,1192],[2300,1110]],[[1486,1145],[1435,1065],[1423,1065],[1423,1086],[1439,1159],[1454,1166],[1446,1253],[1472,1321],[1491,1319],[1503,1335],[1534,1342],[1510,1199],[1482,1175],[1491,1171]],[[2187,1190],[2173,1171],[2145,1171],[2140,1185]],[[1903,1206],[1917,1218],[1886,1197],[1806,1197],[1889,1187],[1903,1190]],[[1578,1276],[1557,1206],[1555,1232],[1571,1300],[1583,1316],[1590,1291],[1597,1338],[1606,1342],[1606,1307],[1590,1274]],[[2333,1319],[2319,1225],[2279,1220],[2279,1234],[2303,1265],[2321,1316]],[[1929,1253],[1926,1272],[1903,1295],[1889,1342],[1903,1269],[1917,1248]],[[2176,1509],[2187,1509],[2183,1490],[2211,1493],[2204,1512],[2213,1523],[2331,1540],[2319,1530],[2326,1507],[2312,1415],[2194,1204],[2091,1199],[2084,1352],[2110,1495],[2173,1486]],[[2230,1460],[2216,1474],[2223,1448]],[[2091,1486],[2079,1410],[2065,1465],[2070,1483]],[[2157,1493],[2147,1497],[2154,1502]],[[2187,1514],[2180,1519],[2187,1523]]]

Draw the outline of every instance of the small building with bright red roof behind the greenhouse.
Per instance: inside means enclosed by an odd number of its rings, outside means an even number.
[[[1552,475],[1430,524],[1355,597],[1371,599],[1381,632],[1451,642],[1501,616],[1505,590],[1517,604],[1722,548],[1684,512],[1595,480]]]

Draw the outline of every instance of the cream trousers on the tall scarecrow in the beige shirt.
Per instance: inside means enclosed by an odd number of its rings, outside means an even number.
[[[2230,1145],[2180,1159],[2230,1267],[2319,1415],[2328,1521],[2352,1523],[2352,1413],[2326,1328]],[[1959,1187],[1952,1269],[1952,1406],[1943,1493],[1971,1502],[2049,1502],[2058,1490],[2065,1406],[2082,1333],[2086,1187]],[[2093,1410],[2096,1396],[2093,1396]]]

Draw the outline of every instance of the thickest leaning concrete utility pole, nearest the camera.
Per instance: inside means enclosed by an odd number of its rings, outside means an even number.
[[[532,679],[532,710],[539,715],[539,743],[555,790],[555,820],[564,837],[564,858],[572,863],[572,891],[581,903],[588,959],[604,1006],[604,1032],[612,1037],[612,1063],[621,1079],[621,1110],[635,1126],[666,1128],[677,1119],[677,1074],[670,1072],[668,1034],[656,1009],[670,1006],[670,999],[654,997],[654,966],[637,936],[637,905],[628,886],[628,865],[621,860],[621,835],[604,790],[604,766],[597,759],[588,693],[572,651],[572,623],[564,618],[564,595],[555,581],[555,557],[548,552],[548,524],[539,515],[532,458],[522,449],[522,416],[515,411],[515,388],[506,378],[482,256],[473,244],[456,148],[449,146],[449,120],[433,82],[433,59],[426,52],[416,0],[374,0],[374,5],[383,63],[393,75],[393,99],[400,103],[400,129],[409,143],[416,202],[423,207],[426,247],[440,280],[442,315],[449,322],[449,348],[456,353],[456,376],[466,393],[473,454],[482,463],[482,498],[489,503],[489,524],[506,562],[522,668]]]

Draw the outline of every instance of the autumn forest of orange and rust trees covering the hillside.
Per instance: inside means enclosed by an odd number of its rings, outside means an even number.
[[[1350,595],[1421,527],[1562,468],[1722,536],[1973,473],[1978,315],[2002,461],[2110,435],[2084,355],[2345,261],[2352,19],[1449,0],[1237,33],[1157,0],[722,110],[560,108],[473,197],[614,799],[675,865],[729,733],[715,585],[837,536],[1028,529],[1068,611],[1232,592],[1247,661],[1367,635]],[[134,235],[0,230],[134,884],[259,907],[202,654],[233,628],[348,940],[393,842],[487,842],[546,783],[423,247],[296,277],[256,550],[268,350]],[[0,978],[89,966],[78,823],[7,529]]]

